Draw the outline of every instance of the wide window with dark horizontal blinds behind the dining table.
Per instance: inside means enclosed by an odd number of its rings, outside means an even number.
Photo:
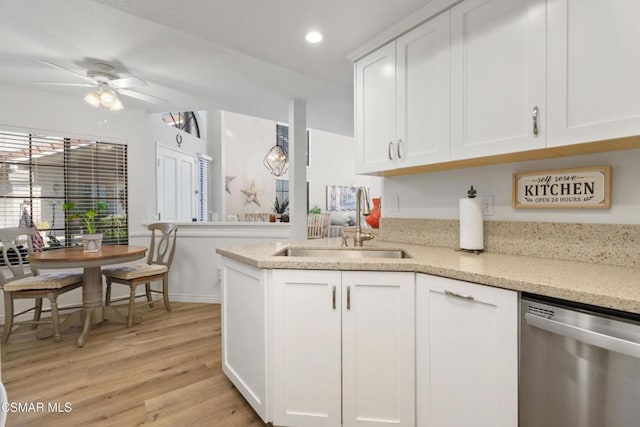
[[[73,246],[82,229],[62,205],[100,201],[103,244],[127,244],[127,195],[126,145],[0,131],[0,227],[35,225],[45,248]]]

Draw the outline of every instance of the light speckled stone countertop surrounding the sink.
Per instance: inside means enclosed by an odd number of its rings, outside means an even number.
[[[274,256],[288,247],[340,248],[340,243],[340,238],[283,241],[217,249],[216,252],[258,268],[410,271],[640,314],[640,270],[634,267],[488,252],[475,255],[449,248],[375,240],[365,242],[365,249],[402,249],[412,258]]]

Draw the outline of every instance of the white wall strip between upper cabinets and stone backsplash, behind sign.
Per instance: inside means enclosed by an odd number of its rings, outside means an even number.
[[[583,166],[612,166],[610,209],[513,209],[514,172],[562,169]],[[616,151],[549,160],[433,172],[385,178],[383,216],[398,218],[458,218],[458,199],[466,197],[470,185],[478,195],[493,195],[494,215],[486,220],[640,223],[640,150]],[[399,197],[399,210],[385,199]]]

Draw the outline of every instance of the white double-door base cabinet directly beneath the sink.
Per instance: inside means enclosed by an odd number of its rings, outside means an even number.
[[[415,425],[414,276],[273,271],[275,425]]]

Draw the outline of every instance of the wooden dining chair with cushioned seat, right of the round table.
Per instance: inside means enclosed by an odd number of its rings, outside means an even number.
[[[169,303],[169,269],[173,263],[173,255],[176,251],[176,234],[178,226],[170,223],[154,223],[147,227],[151,230],[151,244],[149,255],[145,264],[124,265],[107,267],[102,269],[102,274],[107,279],[107,294],[105,305],[111,305],[111,284],[119,283],[129,286],[129,314],[127,315],[127,327],[133,325],[136,298],[146,297],[145,303],[140,306],[153,307],[152,293],[162,294],[164,306],[171,311]],[[151,283],[162,280],[162,290],[151,288]],[[145,285],[145,293],[136,295],[136,288]]]

